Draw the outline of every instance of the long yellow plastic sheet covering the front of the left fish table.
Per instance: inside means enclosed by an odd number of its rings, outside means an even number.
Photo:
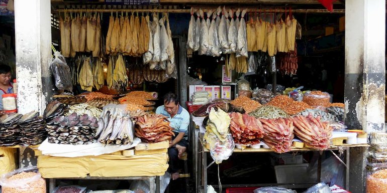
[[[55,177],[122,177],[163,175],[168,168],[167,153],[153,155],[104,154],[84,157],[39,156],[38,168],[45,178]]]

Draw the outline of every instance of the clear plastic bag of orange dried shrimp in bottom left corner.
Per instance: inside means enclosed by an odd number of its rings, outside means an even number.
[[[2,193],[46,193],[46,180],[42,178],[36,166],[23,167],[3,174],[0,185],[3,188]]]

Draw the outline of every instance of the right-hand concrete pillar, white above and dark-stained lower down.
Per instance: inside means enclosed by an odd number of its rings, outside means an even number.
[[[384,130],[385,1],[345,1],[345,124]],[[351,150],[350,188],[365,192],[365,148]]]

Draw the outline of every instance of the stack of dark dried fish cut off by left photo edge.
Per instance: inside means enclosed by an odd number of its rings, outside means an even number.
[[[22,114],[9,113],[0,117],[0,146],[14,146],[19,143],[20,128],[18,121]]]

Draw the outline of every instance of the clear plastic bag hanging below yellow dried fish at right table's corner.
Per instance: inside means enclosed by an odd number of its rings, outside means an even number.
[[[215,134],[208,133],[207,142],[210,144],[211,157],[217,164],[228,159],[234,151],[235,143],[231,134],[228,134],[226,141],[222,142]]]

